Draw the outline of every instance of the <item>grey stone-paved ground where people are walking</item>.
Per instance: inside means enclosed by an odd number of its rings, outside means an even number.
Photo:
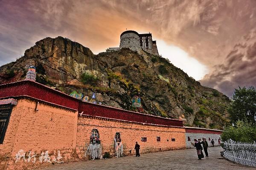
[[[198,160],[195,149],[171,150],[102,160],[79,161],[44,170],[256,170],[220,156],[221,147],[210,147],[209,157]]]

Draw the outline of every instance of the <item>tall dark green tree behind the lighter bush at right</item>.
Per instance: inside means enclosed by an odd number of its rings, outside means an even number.
[[[256,124],[255,87],[239,87],[239,89],[235,89],[232,99],[233,101],[228,109],[231,121],[246,120]]]

